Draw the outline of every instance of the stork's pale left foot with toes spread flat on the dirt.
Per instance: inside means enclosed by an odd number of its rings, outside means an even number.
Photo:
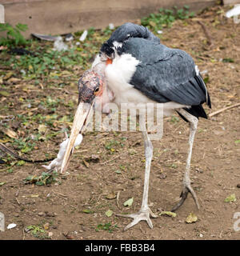
[[[137,214],[117,214],[117,216],[134,219],[132,222],[130,222],[130,224],[128,224],[124,228],[124,230],[130,229],[130,227],[138,224],[138,222],[141,222],[141,221],[146,221],[148,226],[150,226],[150,228],[152,229],[154,226],[153,226],[153,223],[150,220],[150,217],[152,217],[152,218],[157,218],[158,217],[158,215],[154,214],[150,210],[149,207],[146,208],[146,209],[140,209]]]

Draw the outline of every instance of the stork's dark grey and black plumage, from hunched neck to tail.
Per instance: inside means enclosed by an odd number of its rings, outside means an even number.
[[[101,52],[113,56],[113,42],[122,42],[118,54],[131,54],[140,62],[130,84],[156,102],[178,102],[196,117],[206,118],[202,103],[210,97],[201,74],[196,74],[193,58],[186,52],[170,49],[144,26],[126,23],[102,45]]]

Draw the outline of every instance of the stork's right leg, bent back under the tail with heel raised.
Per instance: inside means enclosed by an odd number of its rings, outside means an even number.
[[[197,130],[198,126],[198,118],[194,117],[193,115],[189,114],[186,110],[178,110],[180,114],[182,114],[183,117],[186,118],[186,120],[189,122],[190,126],[190,137],[189,137],[189,150],[188,150],[188,156],[186,159],[186,170],[185,174],[183,176],[182,180],[182,193],[180,194],[181,200],[174,206],[172,211],[177,210],[180,206],[182,206],[183,202],[187,198],[187,194],[190,192],[194,198],[194,202],[196,203],[198,209],[199,209],[199,204],[198,204],[198,198],[196,193],[194,192],[193,188],[190,185],[190,162],[191,162],[191,156],[192,156],[192,150],[193,150],[193,145],[194,145],[194,135]]]

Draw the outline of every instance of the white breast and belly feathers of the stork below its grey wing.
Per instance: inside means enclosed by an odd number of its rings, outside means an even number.
[[[106,66],[105,73],[108,87],[113,91],[114,102],[118,105],[121,103],[134,103],[136,105],[139,103],[156,103],[129,83],[138,63],[139,61],[130,54],[122,54],[121,56],[116,54],[113,63]],[[165,116],[173,114],[175,109],[190,107],[177,102],[166,102],[162,106]]]

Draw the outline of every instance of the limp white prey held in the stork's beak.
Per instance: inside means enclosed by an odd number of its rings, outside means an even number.
[[[50,162],[50,165],[42,166],[42,167],[44,167],[46,170],[56,170],[56,171],[60,170],[62,166],[64,154],[66,152],[66,146],[68,141],[69,141],[69,138],[67,138],[67,135],[66,135],[66,140],[60,144],[60,150],[58,151],[57,158],[55,158],[52,162]],[[74,147],[80,145],[81,142],[82,142],[82,134],[78,134],[78,137],[74,142]]]

